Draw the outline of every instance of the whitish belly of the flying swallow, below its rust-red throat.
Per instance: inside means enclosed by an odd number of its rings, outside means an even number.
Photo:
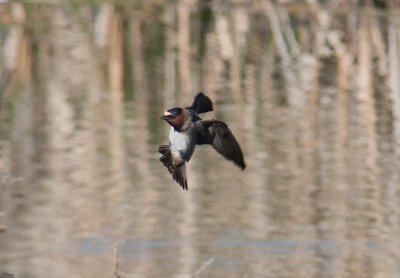
[[[194,137],[190,133],[178,132],[172,128],[169,134],[169,141],[171,151],[181,156],[184,160],[189,161],[196,146]]]

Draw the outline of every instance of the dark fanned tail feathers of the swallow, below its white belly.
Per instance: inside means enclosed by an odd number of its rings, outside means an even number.
[[[188,190],[186,163],[184,161],[180,161],[179,165],[177,166],[177,164],[174,163],[174,157],[168,145],[159,146],[158,152],[162,154],[160,161],[168,169],[168,172],[172,175],[172,178],[179,183],[183,189]]]

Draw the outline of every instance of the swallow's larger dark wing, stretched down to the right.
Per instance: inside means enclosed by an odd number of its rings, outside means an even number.
[[[228,126],[221,121],[204,120],[199,122],[202,125],[198,133],[197,144],[210,144],[226,159],[232,160],[240,168],[246,168],[243,153]]]

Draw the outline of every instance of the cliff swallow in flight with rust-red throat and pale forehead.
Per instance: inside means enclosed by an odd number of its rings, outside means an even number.
[[[199,93],[191,106],[171,108],[161,117],[171,128],[169,145],[158,147],[162,154],[160,161],[183,189],[188,190],[186,162],[192,157],[196,145],[212,145],[242,170],[246,168],[242,150],[228,125],[218,120],[203,120],[198,115],[212,110],[210,98]]]

